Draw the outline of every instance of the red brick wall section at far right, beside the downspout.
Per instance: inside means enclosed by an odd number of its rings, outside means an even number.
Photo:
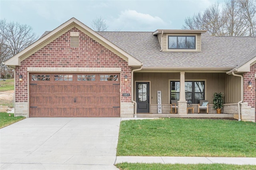
[[[244,73],[244,102],[248,103],[248,106],[255,107],[255,73],[256,64],[250,67],[248,73]],[[252,82],[252,88],[248,88],[248,82]]]

